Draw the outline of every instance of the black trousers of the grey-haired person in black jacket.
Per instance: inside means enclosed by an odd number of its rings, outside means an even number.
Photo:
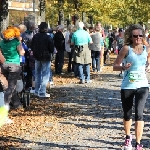
[[[64,51],[57,51],[55,57],[55,73],[60,74],[62,73],[64,65]]]

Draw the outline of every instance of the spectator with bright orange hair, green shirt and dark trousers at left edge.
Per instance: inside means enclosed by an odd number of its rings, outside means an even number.
[[[16,27],[9,27],[3,31],[3,37],[4,39],[0,42],[0,51],[5,62],[1,64],[1,70],[8,80],[8,88],[4,93],[5,105],[11,104],[12,108],[19,108],[21,103],[16,93],[16,85],[21,73],[20,56],[25,53],[19,41],[20,30]]]

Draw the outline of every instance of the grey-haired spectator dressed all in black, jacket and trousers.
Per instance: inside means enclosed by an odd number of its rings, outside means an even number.
[[[64,64],[65,38],[63,35],[64,26],[59,25],[58,31],[54,35],[54,46],[57,50],[55,57],[55,73],[61,74]]]

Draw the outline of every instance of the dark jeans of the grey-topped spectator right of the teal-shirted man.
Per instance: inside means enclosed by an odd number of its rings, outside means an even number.
[[[91,50],[91,57],[93,71],[100,71],[100,51]]]

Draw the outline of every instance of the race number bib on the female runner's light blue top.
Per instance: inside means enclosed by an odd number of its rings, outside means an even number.
[[[139,82],[140,80],[144,80],[145,77],[146,77],[145,72],[130,71],[129,73],[130,82]]]

